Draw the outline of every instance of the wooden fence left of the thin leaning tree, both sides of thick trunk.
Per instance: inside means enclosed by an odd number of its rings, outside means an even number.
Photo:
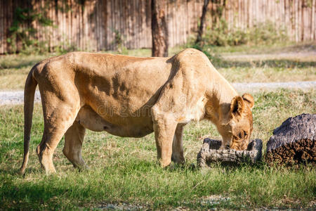
[[[48,46],[72,44],[77,49],[100,51],[116,49],[119,39],[128,49],[150,48],[150,0],[0,0],[0,53],[6,53],[6,41],[17,7],[30,7],[34,11],[47,11],[53,26],[45,27],[33,21],[35,37],[47,41]],[[169,46],[185,43],[197,28],[202,11],[202,0],[169,1],[166,6]]]

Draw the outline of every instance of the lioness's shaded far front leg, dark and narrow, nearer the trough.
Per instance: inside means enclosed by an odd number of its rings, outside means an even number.
[[[182,141],[184,126],[185,124],[178,124],[176,127],[176,132],[173,136],[171,160],[178,164],[185,163],[185,158],[183,155],[183,141]]]

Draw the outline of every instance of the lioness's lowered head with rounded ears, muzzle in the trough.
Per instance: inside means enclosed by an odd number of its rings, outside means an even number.
[[[246,150],[252,132],[254,98],[250,94],[235,96],[230,103],[228,120],[217,125],[223,137],[223,146],[235,150]]]

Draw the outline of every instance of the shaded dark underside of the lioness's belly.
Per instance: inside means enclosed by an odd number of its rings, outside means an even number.
[[[87,129],[96,132],[106,131],[115,136],[143,137],[153,132],[150,116],[115,117],[115,121],[111,121],[112,119],[112,117],[108,117],[107,120],[105,120],[90,106],[84,106],[79,111],[76,120]],[[121,122],[121,124],[117,124],[117,122]]]

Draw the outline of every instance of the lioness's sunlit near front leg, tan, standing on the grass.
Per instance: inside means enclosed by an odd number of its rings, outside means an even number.
[[[171,163],[172,143],[177,122],[168,114],[153,112],[154,139],[157,146],[157,159],[162,167]]]

